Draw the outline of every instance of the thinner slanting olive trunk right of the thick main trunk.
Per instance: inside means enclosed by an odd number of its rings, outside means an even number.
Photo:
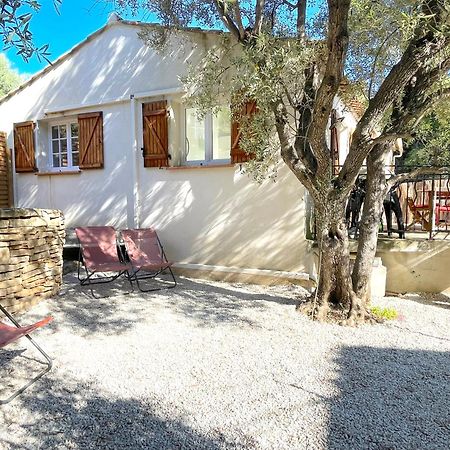
[[[384,158],[390,143],[377,145],[367,157],[367,183],[360,221],[358,251],[353,268],[353,289],[365,306],[370,302],[370,277],[377,251],[378,229],[386,195]]]

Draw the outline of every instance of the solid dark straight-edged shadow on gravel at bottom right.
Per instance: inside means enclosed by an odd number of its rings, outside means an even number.
[[[444,449],[450,352],[345,347],[330,404],[328,449]]]

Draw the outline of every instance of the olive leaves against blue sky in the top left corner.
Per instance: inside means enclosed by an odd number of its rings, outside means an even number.
[[[53,0],[56,9],[61,2],[62,0]],[[35,0],[3,0],[0,3],[0,36],[4,50],[14,48],[25,61],[33,55],[48,61],[48,44],[36,47],[30,30],[33,14],[40,7]]]

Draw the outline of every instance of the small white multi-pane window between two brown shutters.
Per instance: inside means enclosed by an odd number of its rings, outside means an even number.
[[[78,168],[78,123],[51,124],[50,150],[50,167],[52,169]]]

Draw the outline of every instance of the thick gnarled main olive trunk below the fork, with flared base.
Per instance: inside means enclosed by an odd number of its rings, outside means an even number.
[[[325,320],[332,305],[348,310],[347,323],[354,325],[365,320],[366,314],[352,285],[345,201],[316,201],[315,213],[319,279],[312,305],[313,316]]]

